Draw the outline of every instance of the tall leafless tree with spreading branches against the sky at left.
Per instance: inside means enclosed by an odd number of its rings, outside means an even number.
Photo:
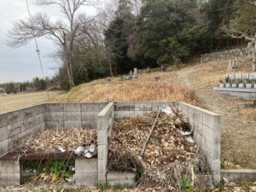
[[[12,30],[9,31],[9,46],[20,47],[27,44],[33,38],[46,37],[55,42],[61,48],[61,59],[63,60],[69,79],[69,86],[73,88],[73,64],[75,58],[74,44],[76,40],[84,35],[84,26],[95,18],[88,18],[80,14],[82,6],[90,6],[90,0],[38,0],[37,4],[44,6],[56,6],[60,9],[64,20],[50,20],[48,15],[37,13],[28,20],[14,22]]]

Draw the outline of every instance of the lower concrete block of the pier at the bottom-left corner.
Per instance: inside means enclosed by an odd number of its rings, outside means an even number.
[[[0,186],[20,185],[20,173],[0,173]]]

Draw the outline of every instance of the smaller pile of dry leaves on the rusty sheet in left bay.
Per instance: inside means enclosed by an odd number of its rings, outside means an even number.
[[[46,130],[37,137],[29,137],[23,143],[28,151],[54,153],[57,147],[73,151],[84,143],[96,141],[95,129],[73,128],[69,130]]]

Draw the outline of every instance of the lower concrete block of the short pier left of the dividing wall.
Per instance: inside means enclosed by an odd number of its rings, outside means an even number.
[[[76,185],[85,185],[87,187],[96,187],[98,184],[97,173],[75,173]]]

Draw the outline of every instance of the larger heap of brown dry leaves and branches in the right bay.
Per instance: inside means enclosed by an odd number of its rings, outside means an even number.
[[[143,169],[140,182],[173,189],[182,177],[207,169],[187,118],[176,108],[169,111],[116,121],[109,170],[135,171],[139,165]]]

